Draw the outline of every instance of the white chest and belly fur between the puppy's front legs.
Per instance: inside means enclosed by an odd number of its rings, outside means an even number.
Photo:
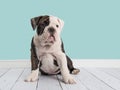
[[[56,74],[58,73],[59,67],[54,64],[54,60],[56,60],[56,50],[60,50],[60,47],[36,47],[36,53],[39,61],[41,62],[40,69],[48,74]]]

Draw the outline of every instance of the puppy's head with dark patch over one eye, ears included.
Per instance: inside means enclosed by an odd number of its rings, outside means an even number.
[[[39,16],[31,19],[33,30],[43,45],[52,45],[60,38],[64,22],[54,16]]]

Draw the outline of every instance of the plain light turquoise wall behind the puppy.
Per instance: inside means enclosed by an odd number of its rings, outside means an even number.
[[[0,60],[29,59],[30,19],[62,18],[71,58],[120,59],[120,0],[0,0]]]

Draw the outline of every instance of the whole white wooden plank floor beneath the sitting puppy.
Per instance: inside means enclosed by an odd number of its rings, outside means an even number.
[[[0,69],[0,90],[120,90],[120,68],[80,68],[72,75],[77,84],[62,82],[60,75],[40,76],[37,82],[24,82],[30,68]]]

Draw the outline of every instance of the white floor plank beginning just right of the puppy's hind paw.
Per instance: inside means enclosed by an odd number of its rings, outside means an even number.
[[[89,90],[114,90],[82,68],[77,77]]]

